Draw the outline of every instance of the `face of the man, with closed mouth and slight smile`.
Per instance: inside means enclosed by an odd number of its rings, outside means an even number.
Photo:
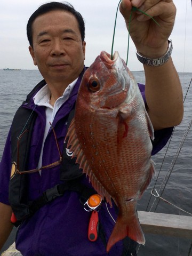
[[[29,51],[47,84],[73,82],[85,60],[85,42],[75,16],[60,10],[48,12],[35,19],[32,29]]]

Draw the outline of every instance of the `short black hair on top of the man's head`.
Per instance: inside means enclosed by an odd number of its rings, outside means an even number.
[[[31,17],[28,20],[27,38],[28,38],[30,46],[33,47],[32,25],[33,25],[34,20],[42,14],[45,14],[45,13],[48,13],[51,11],[55,11],[55,10],[67,11],[67,12],[72,13],[75,16],[75,18],[77,19],[77,22],[78,22],[80,33],[81,33],[82,42],[84,41],[84,39],[85,39],[85,23],[84,23],[81,13],[77,12],[74,9],[73,5],[69,4],[68,2],[65,2],[65,3],[50,2],[50,3],[46,3],[46,4],[39,6],[38,9],[31,15]]]

